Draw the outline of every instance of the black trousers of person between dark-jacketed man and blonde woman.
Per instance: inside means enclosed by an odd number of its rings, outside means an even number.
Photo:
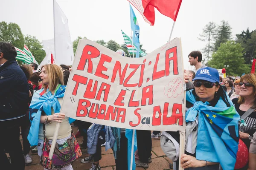
[[[22,136],[24,155],[28,154],[30,151],[30,144],[28,140],[30,126],[31,124],[30,124],[29,118],[25,117],[23,124],[21,125],[21,136]]]

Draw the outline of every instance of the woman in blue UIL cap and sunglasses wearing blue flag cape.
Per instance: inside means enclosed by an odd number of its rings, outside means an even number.
[[[234,169],[239,114],[221,88],[215,68],[199,69],[193,81],[195,89],[186,92],[186,122],[198,120],[196,150],[185,151],[181,166],[186,170],[218,170],[221,164],[224,170]]]

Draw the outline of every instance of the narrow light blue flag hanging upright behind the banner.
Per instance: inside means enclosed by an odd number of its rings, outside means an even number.
[[[133,45],[137,47],[137,53],[136,53],[136,58],[140,57],[140,26],[137,21],[137,17],[134,14],[133,9],[131,8],[130,4],[130,16],[131,16],[131,30],[133,31],[132,35],[132,40],[133,40]]]

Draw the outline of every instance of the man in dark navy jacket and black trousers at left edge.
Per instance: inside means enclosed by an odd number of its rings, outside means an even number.
[[[0,160],[6,170],[24,170],[20,125],[28,110],[29,85],[12,44],[0,42]],[[6,153],[10,154],[11,164]]]

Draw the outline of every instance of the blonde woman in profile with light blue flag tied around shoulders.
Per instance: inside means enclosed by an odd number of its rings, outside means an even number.
[[[63,84],[63,73],[57,65],[47,64],[41,68],[40,78],[42,88],[34,94],[29,108],[31,128],[29,142],[38,145],[38,155],[42,155],[44,143],[43,124],[45,124],[45,136],[52,142],[57,122],[61,122],[57,143],[63,144],[71,137],[69,118],[59,113],[66,86]],[[47,170],[47,169],[45,169]],[[61,170],[73,170],[71,164]]]

